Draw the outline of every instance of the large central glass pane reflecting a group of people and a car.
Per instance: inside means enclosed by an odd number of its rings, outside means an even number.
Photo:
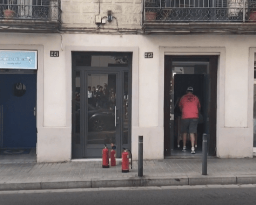
[[[87,144],[116,144],[116,74],[87,74]]]

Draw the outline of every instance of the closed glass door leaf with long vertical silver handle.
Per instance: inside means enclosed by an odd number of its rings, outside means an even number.
[[[120,144],[120,72],[85,72],[85,156],[101,157],[107,144]],[[117,146],[120,147],[120,146]]]

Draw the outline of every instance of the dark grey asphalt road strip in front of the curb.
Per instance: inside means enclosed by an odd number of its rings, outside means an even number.
[[[1,205],[255,205],[255,188],[149,188],[0,192]]]

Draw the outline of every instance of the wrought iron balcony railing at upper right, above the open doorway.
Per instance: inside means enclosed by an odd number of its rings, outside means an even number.
[[[256,0],[143,0],[144,22],[256,22]]]

